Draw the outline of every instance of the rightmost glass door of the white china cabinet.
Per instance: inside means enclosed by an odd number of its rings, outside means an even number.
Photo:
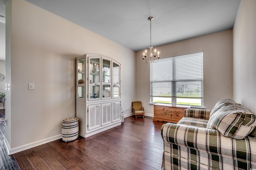
[[[120,65],[113,61],[113,97],[120,97]]]

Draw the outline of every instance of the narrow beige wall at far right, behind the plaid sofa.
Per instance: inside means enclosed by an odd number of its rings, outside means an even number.
[[[234,24],[234,100],[256,113],[256,1],[241,0]]]

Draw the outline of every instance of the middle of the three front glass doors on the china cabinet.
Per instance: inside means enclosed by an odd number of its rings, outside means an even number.
[[[102,99],[111,98],[111,61],[102,58]]]

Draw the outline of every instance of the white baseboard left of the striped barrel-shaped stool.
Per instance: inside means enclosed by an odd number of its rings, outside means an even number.
[[[39,146],[41,144],[45,144],[45,143],[48,143],[48,142],[52,142],[54,140],[58,140],[62,138],[62,135],[59,134],[59,135],[56,135],[56,136],[53,136],[53,137],[50,137],[50,138],[47,138],[47,139],[44,139],[44,140],[38,140],[36,142],[32,142],[30,144],[25,144],[25,145],[22,145],[22,146],[18,146],[16,148],[12,148],[10,149],[10,146],[8,144],[8,142],[6,143],[6,148],[8,149],[8,154],[9,155],[12,155],[12,154],[15,154],[15,153],[18,153],[18,152],[21,152],[23,150],[27,150],[27,149],[30,149],[30,148],[34,148],[36,146]],[[9,146],[9,147],[8,147]]]

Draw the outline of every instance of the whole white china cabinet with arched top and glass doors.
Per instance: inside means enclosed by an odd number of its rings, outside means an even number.
[[[121,64],[106,55],[76,58],[76,117],[88,137],[121,125]]]

